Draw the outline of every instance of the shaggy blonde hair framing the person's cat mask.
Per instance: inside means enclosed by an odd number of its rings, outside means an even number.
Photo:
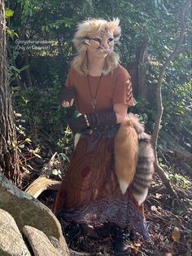
[[[93,38],[103,29],[107,29],[109,33],[112,33],[114,42],[118,42],[120,39],[120,20],[118,18],[107,21],[107,20],[85,20],[78,24],[77,31],[72,40],[74,46],[76,47],[76,56],[72,60],[72,68],[74,68],[82,76],[86,76],[88,71],[88,57],[85,44],[85,38]],[[107,75],[112,72],[114,68],[119,64],[119,55],[113,51],[113,46],[111,51],[105,58],[105,64],[103,68],[103,75]]]

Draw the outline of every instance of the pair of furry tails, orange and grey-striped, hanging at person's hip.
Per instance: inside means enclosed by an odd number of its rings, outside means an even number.
[[[115,138],[116,175],[123,194],[131,183],[138,205],[146,200],[154,172],[154,161],[151,136],[144,132],[138,118],[129,114],[120,125]]]

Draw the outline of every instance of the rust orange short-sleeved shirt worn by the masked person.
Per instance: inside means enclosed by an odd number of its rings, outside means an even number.
[[[67,87],[74,87],[76,89],[76,108],[80,113],[102,112],[113,109],[113,104],[127,104],[133,106],[133,90],[131,84],[131,77],[128,71],[120,64],[106,76],[100,77],[81,76],[76,70],[70,68],[68,78],[66,81]],[[91,105],[92,96],[96,96],[97,104],[95,110]]]

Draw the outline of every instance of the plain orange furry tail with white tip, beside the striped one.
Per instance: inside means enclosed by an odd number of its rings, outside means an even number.
[[[114,145],[116,176],[124,194],[133,181],[138,153],[137,132],[129,119],[120,125]]]

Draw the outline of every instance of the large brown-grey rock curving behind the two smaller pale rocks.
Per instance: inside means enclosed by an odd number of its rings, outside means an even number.
[[[16,188],[1,172],[0,208],[12,215],[20,232],[25,225],[36,227],[46,236],[57,238],[61,247],[66,249],[66,255],[69,255],[68,245],[55,214],[33,196]]]

